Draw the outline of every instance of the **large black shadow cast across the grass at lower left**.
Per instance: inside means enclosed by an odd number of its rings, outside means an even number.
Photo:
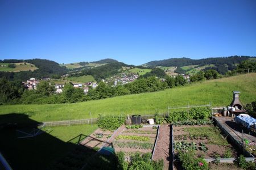
[[[63,142],[41,131],[39,125],[28,114],[0,115],[0,151],[14,170],[116,169],[115,156],[96,155],[96,150],[79,145],[86,135]]]

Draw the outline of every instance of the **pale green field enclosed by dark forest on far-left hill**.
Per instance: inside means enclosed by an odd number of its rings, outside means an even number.
[[[10,68],[8,67],[10,63],[0,63],[0,71],[12,71],[12,72],[19,72],[19,71],[34,71],[36,69],[38,69],[38,67],[36,67],[35,65],[32,65],[31,63],[26,63],[26,65],[24,64],[24,62],[20,62],[20,63],[14,63],[15,64],[15,68]]]

